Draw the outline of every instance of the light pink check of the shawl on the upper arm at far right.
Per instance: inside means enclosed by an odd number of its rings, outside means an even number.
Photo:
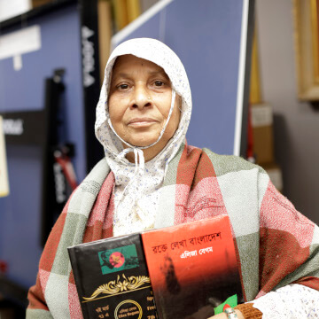
[[[315,230],[315,224],[300,214],[270,182],[261,203],[262,227],[291,233],[303,248],[311,245]]]

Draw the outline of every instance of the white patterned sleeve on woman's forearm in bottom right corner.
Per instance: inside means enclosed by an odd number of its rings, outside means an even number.
[[[319,292],[302,284],[288,284],[253,302],[262,319],[319,318]]]

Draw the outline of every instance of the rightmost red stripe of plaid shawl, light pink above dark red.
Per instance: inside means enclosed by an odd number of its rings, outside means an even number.
[[[315,224],[269,182],[261,203],[261,291],[270,292],[310,254]],[[300,278],[300,283],[303,278]],[[318,280],[312,284],[317,285]],[[258,296],[261,295],[261,292]]]

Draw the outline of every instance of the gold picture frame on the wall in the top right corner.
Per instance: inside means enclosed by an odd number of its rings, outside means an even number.
[[[292,0],[298,97],[319,101],[319,0]]]

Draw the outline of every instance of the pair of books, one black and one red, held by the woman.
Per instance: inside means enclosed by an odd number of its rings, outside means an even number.
[[[84,318],[206,319],[244,302],[227,215],[68,250]]]

